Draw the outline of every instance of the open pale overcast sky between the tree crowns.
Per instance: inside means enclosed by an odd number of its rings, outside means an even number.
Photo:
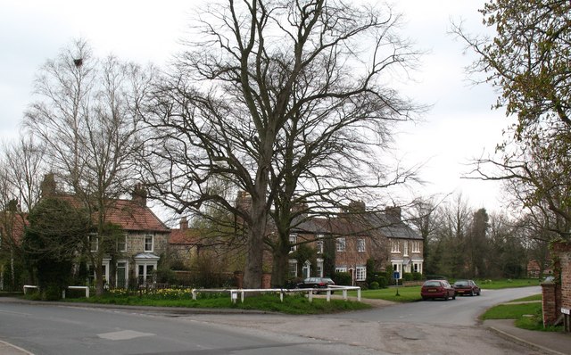
[[[0,138],[16,136],[30,102],[38,68],[73,38],[85,38],[95,54],[164,65],[177,51],[190,14],[199,1],[4,0],[0,3]],[[492,88],[472,87],[464,67],[473,59],[447,34],[451,20],[463,19],[484,31],[477,12],[484,1],[401,0],[393,8],[404,15],[403,34],[426,51],[406,95],[433,105],[424,120],[399,127],[396,154],[409,164],[424,163],[426,186],[414,194],[462,193],[474,208],[497,210],[499,188],[491,182],[461,179],[470,159],[492,152],[508,121],[492,111]],[[406,83],[405,83],[406,84]]]

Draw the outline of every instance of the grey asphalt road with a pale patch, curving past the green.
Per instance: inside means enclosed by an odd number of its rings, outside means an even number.
[[[0,301],[0,340],[34,354],[525,354],[477,325],[539,288],[324,316],[173,314]]]

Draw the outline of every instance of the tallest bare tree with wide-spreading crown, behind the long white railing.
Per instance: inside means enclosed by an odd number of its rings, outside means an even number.
[[[177,211],[214,202],[243,220],[245,286],[261,284],[272,205],[285,250],[295,203],[327,208],[395,181],[376,160],[390,123],[415,107],[385,79],[417,55],[397,20],[341,1],[215,4],[157,89],[147,145],[155,196]],[[212,192],[219,176],[249,195],[248,210]]]

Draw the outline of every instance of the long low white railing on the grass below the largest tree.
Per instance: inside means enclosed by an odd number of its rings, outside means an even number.
[[[342,291],[343,300],[347,301],[347,291],[357,291],[357,301],[360,301],[360,287],[358,286],[329,286],[327,288],[239,288],[239,289],[217,289],[217,288],[197,288],[193,289],[193,300],[196,300],[196,295],[198,293],[230,293],[230,300],[232,303],[236,303],[238,300],[238,295],[240,296],[240,301],[244,302],[245,293],[279,293],[279,300],[284,301],[285,293],[307,293],[309,301],[313,301],[313,293],[326,293],[327,301],[331,301],[331,294],[335,291]]]

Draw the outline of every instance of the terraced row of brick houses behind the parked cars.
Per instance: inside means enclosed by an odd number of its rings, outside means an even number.
[[[327,241],[335,242],[335,272],[347,272],[352,284],[364,282],[367,262],[374,260],[383,268],[403,272],[423,272],[423,239],[401,219],[401,208],[391,207],[385,212],[365,211],[358,203],[359,214],[346,213],[337,219],[311,219],[295,228],[291,244],[307,242],[318,255],[315,265],[310,260],[290,260],[289,277],[324,277],[324,255]],[[295,252],[292,246],[292,252]],[[376,270],[377,271],[377,270]]]

